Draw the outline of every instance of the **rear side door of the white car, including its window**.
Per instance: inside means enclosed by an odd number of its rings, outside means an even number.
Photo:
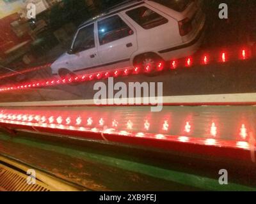
[[[97,31],[102,63],[106,66],[130,66],[131,55],[138,50],[135,29],[116,14],[99,20]]]

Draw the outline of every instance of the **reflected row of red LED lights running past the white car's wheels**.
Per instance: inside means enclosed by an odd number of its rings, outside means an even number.
[[[251,57],[251,52],[248,49],[242,49],[239,51],[239,59],[245,60],[249,59]],[[194,57],[195,58],[195,57]],[[202,55],[200,57],[200,64],[207,65],[209,62],[212,61],[212,59],[209,57],[209,55]],[[221,52],[220,54],[220,62],[227,62],[228,61],[228,55],[227,52]],[[193,57],[186,57],[186,59],[179,59],[179,60],[172,60],[170,61],[170,66],[168,68],[170,70],[181,68],[182,64],[184,64],[184,67],[190,68],[191,66],[195,65],[195,61],[193,60]],[[49,64],[45,66],[40,66],[40,68],[46,68],[49,67]],[[48,80],[38,80],[36,82],[25,82],[23,84],[19,85],[11,85],[8,87],[0,87],[0,92],[4,91],[16,91],[16,90],[24,90],[24,89],[31,89],[31,88],[40,88],[40,87],[48,87],[48,86],[54,86],[54,85],[61,85],[61,84],[72,84],[74,82],[88,82],[92,80],[102,80],[104,78],[108,77],[124,77],[128,75],[138,75],[140,73],[151,73],[153,71],[163,71],[163,69],[166,67],[166,64],[164,62],[158,62],[156,70],[152,69],[149,65],[145,68],[140,67],[129,67],[129,68],[120,68],[120,69],[113,69],[108,71],[100,71],[96,73],[88,73],[84,75],[77,75],[76,77],[67,77],[67,78],[49,78]],[[40,69],[40,68],[33,68],[33,71]],[[31,69],[30,69],[31,71]],[[27,70],[24,70],[23,73],[28,72]],[[11,74],[12,75],[12,74]],[[13,73],[15,75],[15,73]],[[1,77],[0,77],[1,78]],[[3,78],[3,76],[2,76]]]

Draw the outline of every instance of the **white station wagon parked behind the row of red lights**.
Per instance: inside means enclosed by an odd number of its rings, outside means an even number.
[[[80,25],[70,50],[51,65],[52,74],[154,68],[157,61],[196,52],[204,25],[202,0],[129,1]]]

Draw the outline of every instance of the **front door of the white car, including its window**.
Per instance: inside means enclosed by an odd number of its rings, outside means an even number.
[[[81,27],[77,31],[71,47],[72,71],[82,71],[102,64],[97,51],[94,31],[94,23]]]

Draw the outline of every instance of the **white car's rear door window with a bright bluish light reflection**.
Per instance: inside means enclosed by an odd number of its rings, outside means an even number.
[[[132,35],[131,27],[125,24],[118,15],[100,20],[98,22],[99,43],[104,45],[111,41],[119,40]]]

